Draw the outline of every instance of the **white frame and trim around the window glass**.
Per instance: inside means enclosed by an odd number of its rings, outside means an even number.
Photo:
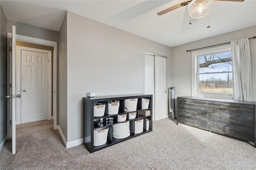
[[[221,53],[225,51],[231,51],[231,45],[224,45],[221,47],[214,47],[210,49],[204,49],[200,51],[192,52],[192,71],[191,71],[191,96],[200,96],[206,98],[221,98],[221,99],[233,99],[233,94],[224,94],[224,93],[211,93],[211,92],[199,92],[199,81],[198,81],[198,72],[199,72],[199,61],[198,56],[209,55],[213,53]]]

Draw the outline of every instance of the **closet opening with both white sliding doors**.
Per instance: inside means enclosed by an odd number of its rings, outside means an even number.
[[[153,120],[166,118],[166,57],[145,53],[145,93],[153,94]]]

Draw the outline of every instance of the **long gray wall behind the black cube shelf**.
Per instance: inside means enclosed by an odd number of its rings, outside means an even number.
[[[145,52],[167,57],[170,66],[170,47],[72,12],[67,12],[67,35],[67,142],[83,137],[87,92],[144,93]]]

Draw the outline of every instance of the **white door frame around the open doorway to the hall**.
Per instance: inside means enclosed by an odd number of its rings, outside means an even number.
[[[8,33],[8,35],[12,35],[12,33]],[[57,126],[57,42],[56,41],[49,41],[45,39],[39,39],[34,37],[28,37],[24,35],[18,35],[16,34],[16,40],[23,41],[27,43],[34,43],[34,44],[40,44],[40,45],[47,45],[50,47],[54,47],[53,52],[53,101],[52,101],[52,112],[53,112],[53,119],[54,119],[54,129],[58,129]]]

